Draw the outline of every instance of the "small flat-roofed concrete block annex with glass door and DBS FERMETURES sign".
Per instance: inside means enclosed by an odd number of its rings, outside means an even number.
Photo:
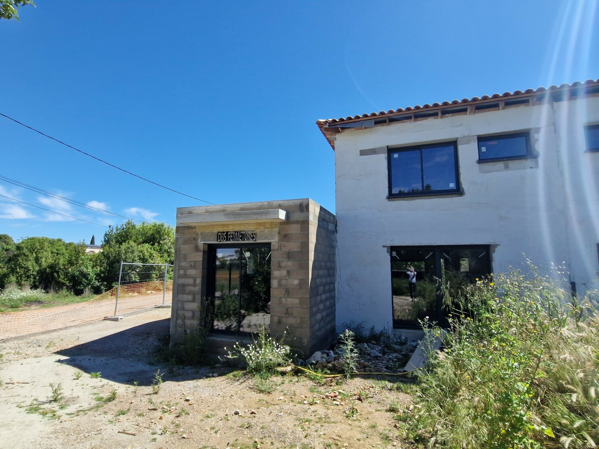
[[[311,354],[335,338],[335,216],[311,199],[177,209],[171,339],[264,325]]]

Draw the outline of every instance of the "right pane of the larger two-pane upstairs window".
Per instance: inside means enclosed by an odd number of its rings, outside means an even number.
[[[423,148],[424,190],[456,189],[455,151],[453,145]]]

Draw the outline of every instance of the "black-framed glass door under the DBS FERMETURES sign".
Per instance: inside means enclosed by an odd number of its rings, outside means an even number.
[[[213,330],[270,330],[270,245],[214,245],[210,248],[207,296]]]

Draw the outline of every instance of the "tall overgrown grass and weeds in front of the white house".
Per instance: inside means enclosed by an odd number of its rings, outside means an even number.
[[[429,447],[587,448],[599,444],[594,305],[534,271],[481,280],[447,298],[445,348],[420,372],[406,438]]]

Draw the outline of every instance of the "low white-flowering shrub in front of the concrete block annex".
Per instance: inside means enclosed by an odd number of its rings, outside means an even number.
[[[242,358],[247,363],[247,371],[250,374],[261,378],[269,378],[275,373],[277,366],[288,365],[291,362],[289,357],[291,348],[283,344],[284,338],[285,334],[283,334],[280,341],[277,341],[267,335],[264,326],[262,326],[258,339],[254,339],[252,345],[246,348],[239,343],[235,343],[227,357],[229,359]]]

